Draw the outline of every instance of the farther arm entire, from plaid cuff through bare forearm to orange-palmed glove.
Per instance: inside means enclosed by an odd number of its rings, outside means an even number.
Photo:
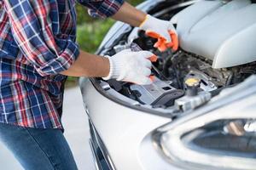
[[[167,20],[159,20],[146,14],[131,4],[125,3],[124,0],[78,1],[88,7],[89,14],[94,17],[112,17],[113,20],[140,27],[149,37],[158,39],[154,48],[160,51],[165,51],[167,48],[176,51],[178,48],[177,32],[172,23]]]

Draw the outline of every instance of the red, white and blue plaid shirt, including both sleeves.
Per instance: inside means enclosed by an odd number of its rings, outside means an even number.
[[[115,14],[123,0],[79,0],[90,14]],[[75,0],[0,0],[0,122],[62,128],[67,70],[79,56]]]

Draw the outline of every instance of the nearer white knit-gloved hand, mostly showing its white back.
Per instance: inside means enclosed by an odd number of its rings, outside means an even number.
[[[112,57],[107,57],[110,71],[108,77],[103,77],[104,80],[116,79],[140,85],[152,83],[150,79],[152,63],[149,59],[155,59],[154,54],[148,51],[132,52],[131,49],[125,49]]]

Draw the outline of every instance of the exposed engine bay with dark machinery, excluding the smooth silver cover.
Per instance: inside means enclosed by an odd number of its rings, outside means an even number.
[[[158,17],[171,20],[173,15],[166,13]],[[115,80],[107,82],[110,88],[124,98],[136,101],[136,105],[165,111],[193,110],[206,104],[224,88],[236,86],[255,74],[255,61],[232,67],[212,68],[212,59],[183,48],[179,48],[177,52],[171,49],[160,52],[154,48],[154,42],[156,40],[147,37],[144,31],[133,28],[104,52],[104,55],[111,56],[126,48],[137,48],[135,50],[148,50],[158,57],[152,67],[153,84],[141,86]]]

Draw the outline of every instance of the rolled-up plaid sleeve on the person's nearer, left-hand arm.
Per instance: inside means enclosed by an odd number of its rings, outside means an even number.
[[[67,70],[79,56],[79,46],[71,36],[57,37],[56,4],[47,0],[4,0],[4,8],[15,42],[41,76]]]

